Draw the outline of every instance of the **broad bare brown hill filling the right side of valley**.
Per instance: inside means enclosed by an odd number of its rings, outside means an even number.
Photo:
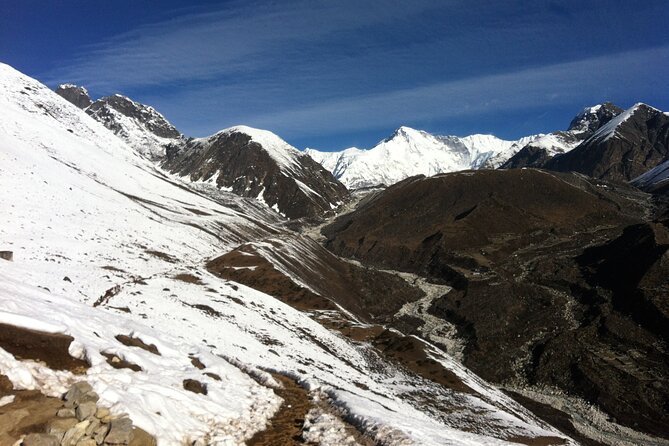
[[[428,311],[486,379],[557,388],[669,438],[669,221],[651,211],[626,185],[476,171],[407,179],[323,233],[335,254],[450,285]]]

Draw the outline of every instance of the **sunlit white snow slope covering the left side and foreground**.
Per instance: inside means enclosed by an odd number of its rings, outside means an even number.
[[[556,435],[436,348],[434,359],[479,395],[416,378],[305,313],[210,275],[206,259],[281,231],[271,225],[277,215],[255,200],[195,186],[216,195],[184,187],[81,110],[0,64],[0,250],[14,252],[14,262],[0,261],[0,321],[73,336],[71,353],[91,362],[86,379],[102,403],[127,412],[161,445],[238,444],[263,429],[280,401],[261,369],[328,395],[388,444]],[[175,279],[180,273],[199,282]],[[115,287],[108,302],[100,299]],[[131,313],[114,309],[122,307]],[[161,355],[126,347],[118,334],[153,343]],[[113,369],[100,352],[143,371]],[[207,368],[196,369],[190,355]],[[0,373],[52,395],[78,379],[1,349]],[[208,395],[184,390],[186,378],[206,383]],[[431,411],[421,394],[452,410]]]

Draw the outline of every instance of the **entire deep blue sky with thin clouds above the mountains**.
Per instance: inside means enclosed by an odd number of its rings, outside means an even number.
[[[514,139],[606,100],[669,110],[669,4],[3,0],[0,60],[120,92],[182,132],[246,124],[299,148],[400,125]]]

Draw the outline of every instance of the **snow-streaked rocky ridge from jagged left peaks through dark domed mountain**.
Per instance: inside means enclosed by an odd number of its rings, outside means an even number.
[[[257,198],[291,218],[332,213],[348,190],[308,155],[265,130],[239,126],[208,138],[187,138],[153,107],[122,95],[91,101],[85,88],[56,93],[167,171]]]

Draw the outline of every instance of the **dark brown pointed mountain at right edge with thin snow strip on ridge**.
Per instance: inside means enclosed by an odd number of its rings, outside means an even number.
[[[669,116],[646,104],[636,104],[571,152],[546,162],[544,167],[630,181],[667,159]]]

